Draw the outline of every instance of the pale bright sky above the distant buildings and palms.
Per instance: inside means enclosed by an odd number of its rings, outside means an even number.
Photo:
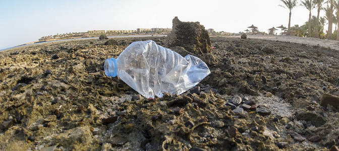
[[[279,0],[0,0],[0,49],[69,32],[172,28],[175,16],[181,21],[198,21],[214,31],[238,33],[254,24],[267,32],[272,27],[288,26],[289,11],[279,4]],[[323,11],[320,16],[324,16]],[[307,20],[308,10],[301,6],[292,10],[291,26],[301,26]]]

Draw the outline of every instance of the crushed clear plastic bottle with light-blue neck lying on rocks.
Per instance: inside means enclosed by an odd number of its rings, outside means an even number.
[[[152,40],[133,42],[117,59],[106,59],[104,70],[149,99],[161,98],[163,92],[180,95],[210,73],[200,58],[183,57]]]

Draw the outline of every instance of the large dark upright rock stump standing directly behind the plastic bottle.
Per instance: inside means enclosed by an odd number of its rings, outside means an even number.
[[[193,54],[211,53],[211,40],[205,27],[199,22],[181,22],[178,17],[173,19],[172,33],[167,35],[166,46],[184,47]]]

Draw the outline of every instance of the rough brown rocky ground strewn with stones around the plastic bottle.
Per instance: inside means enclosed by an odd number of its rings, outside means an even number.
[[[165,37],[1,51],[0,149],[327,150],[338,145],[337,50],[213,37],[213,55],[203,58],[211,74],[198,87],[148,100],[119,78],[106,77],[103,61],[118,57],[133,41],[150,39],[163,45]]]

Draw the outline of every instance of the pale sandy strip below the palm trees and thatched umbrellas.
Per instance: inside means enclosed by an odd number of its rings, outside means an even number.
[[[240,38],[240,36],[228,36],[232,38]],[[274,40],[274,41],[286,41],[295,42],[308,45],[319,45],[326,48],[339,50],[339,41],[318,39],[312,37],[296,37],[296,36],[262,36],[262,35],[247,35],[249,39],[262,39],[262,40]]]

